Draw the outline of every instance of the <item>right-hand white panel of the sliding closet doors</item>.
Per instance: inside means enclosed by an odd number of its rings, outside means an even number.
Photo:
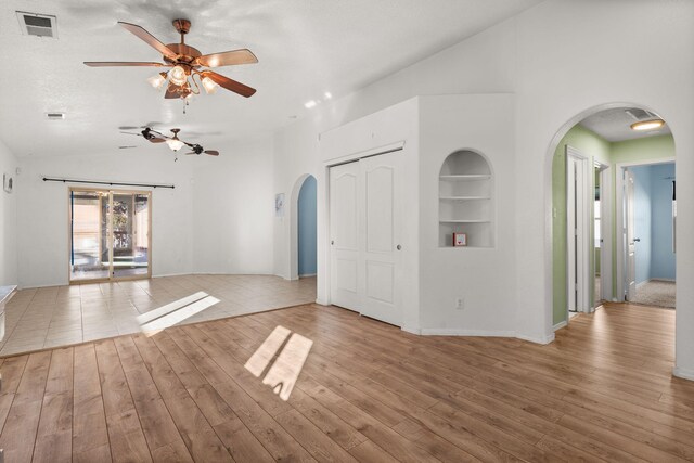
[[[402,324],[400,244],[402,217],[402,154],[389,153],[359,160],[360,312]]]

